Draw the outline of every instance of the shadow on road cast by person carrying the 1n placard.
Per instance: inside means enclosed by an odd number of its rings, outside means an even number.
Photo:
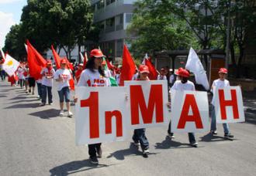
[[[51,176],[65,176],[68,174],[74,174],[74,173],[78,173],[81,171],[88,171],[88,170],[95,169],[95,168],[103,168],[103,167],[109,167],[109,166],[111,166],[111,165],[91,164],[91,162],[89,160],[71,161],[69,163],[62,164],[60,166],[50,169],[50,175]]]

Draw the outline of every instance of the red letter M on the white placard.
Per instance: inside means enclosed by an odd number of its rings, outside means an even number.
[[[156,122],[164,121],[163,90],[162,85],[152,85],[148,106],[145,103],[144,94],[140,85],[130,86],[130,107],[132,124],[140,124],[139,113],[143,118],[144,124],[151,124],[154,110],[156,112]],[[140,112],[139,112],[140,107]]]

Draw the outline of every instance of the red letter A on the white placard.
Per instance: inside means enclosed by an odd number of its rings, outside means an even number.
[[[189,107],[192,109],[192,115],[189,115]],[[195,127],[202,129],[202,120],[199,113],[199,108],[197,107],[195,96],[193,94],[186,94],[184,105],[182,107],[181,118],[178,122],[178,129],[185,128],[187,122],[195,122]]]

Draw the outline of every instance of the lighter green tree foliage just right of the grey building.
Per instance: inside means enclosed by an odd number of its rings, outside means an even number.
[[[195,46],[196,39],[186,23],[174,14],[161,10],[161,2],[143,0],[136,2],[135,6],[127,30],[135,57],[142,57],[145,52]]]

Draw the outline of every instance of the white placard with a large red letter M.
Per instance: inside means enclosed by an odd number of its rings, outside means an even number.
[[[169,123],[167,81],[125,81],[124,85],[129,91],[131,128],[159,127]]]

